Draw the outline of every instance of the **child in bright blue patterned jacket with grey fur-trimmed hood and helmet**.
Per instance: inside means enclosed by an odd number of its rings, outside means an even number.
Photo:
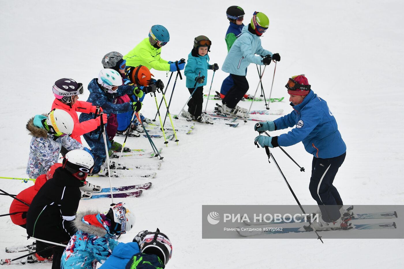
[[[105,213],[78,213],[74,220],[77,232],[63,251],[60,268],[93,269],[97,262],[104,263],[118,244],[116,235],[130,231],[135,224],[135,216],[124,205],[118,203]]]

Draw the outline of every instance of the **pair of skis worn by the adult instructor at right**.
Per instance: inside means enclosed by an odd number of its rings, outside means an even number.
[[[377,213],[364,213],[364,214],[353,214],[351,215],[351,220],[355,221],[358,219],[394,219],[397,218],[397,212],[396,211],[388,211],[388,212],[377,212]],[[303,221],[304,222],[304,217],[297,217],[296,221]],[[249,221],[244,221],[247,225],[250,225],[249,227],[259,227],[256,225],[271,225],[271,224],[285,224],[285,223],[296,223],[294,219],[289,221],[283,220],[281,222],[265,222],[265,221],[258,221],[258,222],[249,222]],[[238,227],[240,228],[240,227]],[[386,223],[367,223],[367,224],[353,224],[351,227],[348,228],[349,230],[355,229],[355,230],[370,230],[370,229],[396,229],[396,223],[395,222],[386,222]],[[326,230],[326,231],[341,231],[344,229],[332,229],[332,230]],[[282,229],[261,229],[261,231],[247,231],[246,229],[238,229],[238,233],[242,236],[248,237],[248,236],[257,236],[257,235],[267,235],[267,234],[277,234],[277,233],[301,233],[301,232],[307,232],[307,231],[313,231],[313,229],[305,225],[303,227],[293,227],[293,228],[282,228]],[[322,230],[324,231],[324,230]]]

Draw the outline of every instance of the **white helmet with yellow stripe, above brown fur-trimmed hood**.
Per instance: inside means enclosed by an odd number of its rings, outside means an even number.
[[[49,131],[58,137],[63,134],[71,135],[74,128],[72,117],[63,109],[53,109],[50,111],[46,124],[49,127]]]

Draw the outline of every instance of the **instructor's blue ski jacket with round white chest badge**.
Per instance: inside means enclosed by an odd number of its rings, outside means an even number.
[[[293,111],[274,120],[276,130],[296,126],[278,137],[278,145],[290,146],[300,141],[306,151],[316,158],[333,158],[345,153],[347,147],[338,130],[337,121],[327,102],[313,90]]]

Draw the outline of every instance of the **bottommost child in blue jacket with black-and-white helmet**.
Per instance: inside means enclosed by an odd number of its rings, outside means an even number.
[[[130,243],[120,243],[102,269],[164,268],[171,258],[173,246],[164,233],[141,231]],[[125,267],[126,265],[126,267]]]

